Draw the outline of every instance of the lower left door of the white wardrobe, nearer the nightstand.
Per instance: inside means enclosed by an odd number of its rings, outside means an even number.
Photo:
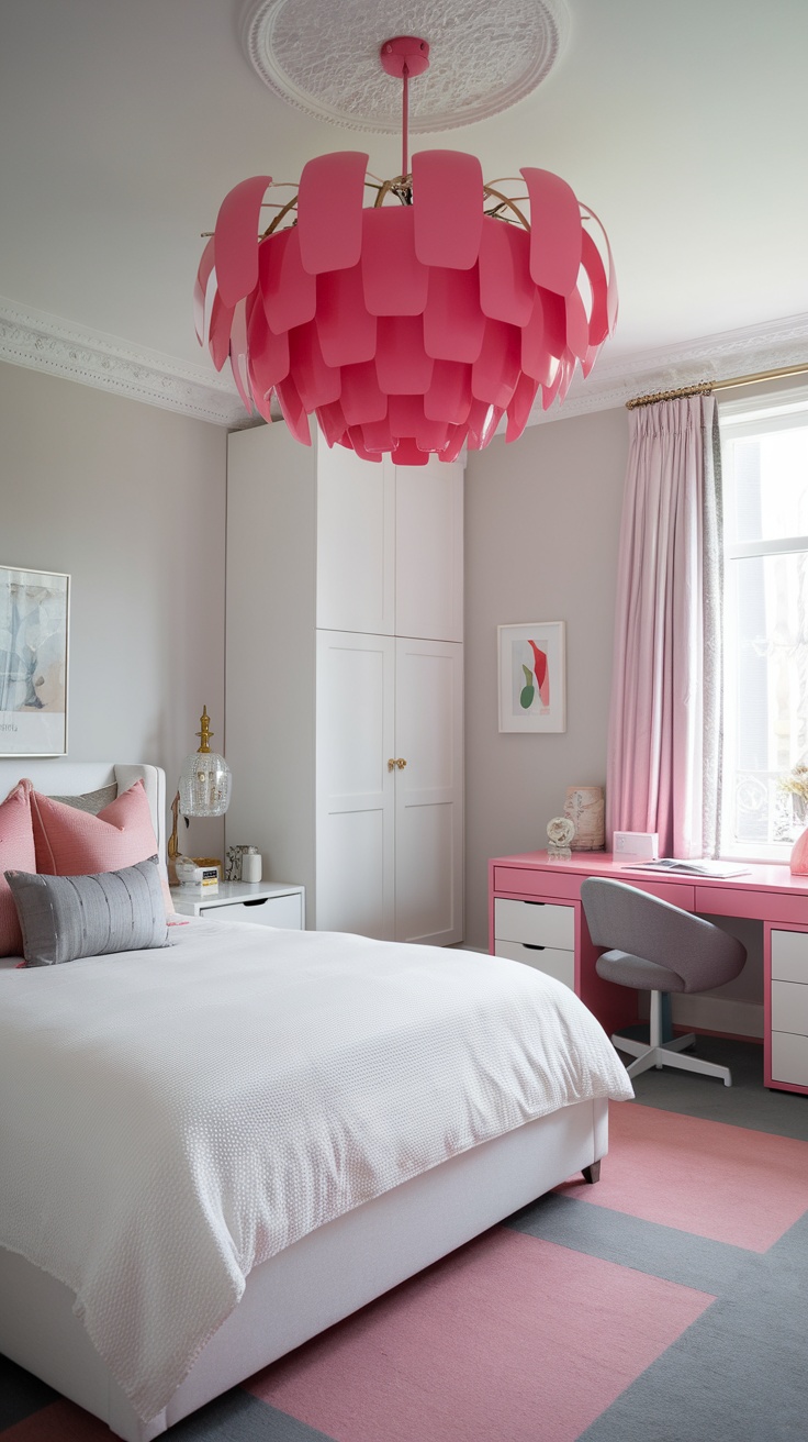
[[[393,707],[392,637],[317,633],[318,932],[395,939]]]

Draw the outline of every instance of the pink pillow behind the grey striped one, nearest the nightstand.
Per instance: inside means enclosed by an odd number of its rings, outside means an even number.
[[[120,871],[157,855],[148,797],[135,782],[92,816],[32,792],[36,870],[46,877],[82,877]]]

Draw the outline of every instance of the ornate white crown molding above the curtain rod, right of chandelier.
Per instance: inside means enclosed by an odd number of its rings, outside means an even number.
[[[701,336],[645,350],[624,360],[603,359],[583,381],[576,376],[566,399],[549,411],[534,407],[529,425],[562,421],[589,411],[611,411],[637,395],[675,391],[699,381],[732,381],[760,371],[781,371],[791,365],[808,365],[808,314],[786,316],[760,326],[724,330],[716,336]]]

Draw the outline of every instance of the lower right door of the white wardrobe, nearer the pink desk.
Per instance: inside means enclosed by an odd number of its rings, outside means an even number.
[[[405,763],[405,764],[402,764]],[[396,640],[396,940],[462,940],[462,646]]]

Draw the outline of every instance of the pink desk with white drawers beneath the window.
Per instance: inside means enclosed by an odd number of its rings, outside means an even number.
[[[583,907],[585,877],[611,877],[706,916],[763,923],[765,1083],[808,1093],[808,877],[788,867],[750,865],[723,881],[652,877],[605,852],[573,852],[550,861],[546,851],[494,857],[488,862],[488,949],[539,966],[572,986],[602,1027],[619,1031],[637,1018],[635,994],[602,981]]]

